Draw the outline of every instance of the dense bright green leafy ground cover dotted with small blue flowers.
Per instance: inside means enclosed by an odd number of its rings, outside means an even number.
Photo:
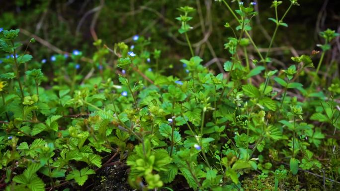
[[[190,41],[200,7],[173,10],[190,53],[179,68],[141,35],[38,61],[27,51],[38,38],[24,46],[1,28],[0,190],[339,190],[339,73],[326,86],[321,70],[340,34],[325,29],[317,50],[278,65],[271,50],[298,0],[272,1],[264,53],[255,1],[212,2],[233,16],[216,70]],[[127,177],[100,187],[109,175]]]

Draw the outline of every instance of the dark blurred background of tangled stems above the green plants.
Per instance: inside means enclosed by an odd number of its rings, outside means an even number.
[[[270,8],[271,0],[253,1],[257,2],[255,10],[259,14],[252,19],[252,35],[258,47],[265,48],[275,27],[268,20],[274,17],[274,9]],[[282,1],[279,17],[290,4],[289,0]],[[244,1],[245,5],[250,2]],[[294,54],[320,50],[316,46],[324,43],[318,35],[320,31],[331,28],[340,32],[340,0],[298,2],[300,6],[293,6],[284,19],[288,28],[280,27],[272,49],[271,57],[282,66]],[[235,0],[231,4],[238,6]],[[185,5],[196,9],[189,22],[194,28],[188,32],[195,53],[205,64],[216,68],[218,62],[229,58],[223,44],[233,33],[224,24],[229,22],[235,27],[236,21],[224,4],[215,0],[0,0],[0,27],[20,28],[23,44],[31,34],[40,37],[43,45],[35,43],[28,50],[37,60],[49,58],[55,54],[55,48],[66,52],[78,49],[90,57],[96,50],[93,39],[102,39],[112,48],[120,41],[132,45],[132,37],[138,34],[151,39],[150,50],[162,50],[163,64],[176,65],[179,59],[190,55],[184,36],[177,32],[180,22],[174,19],[180,14],[176,8]],[[338,65],[339,38],[333,45],[325,63]]]

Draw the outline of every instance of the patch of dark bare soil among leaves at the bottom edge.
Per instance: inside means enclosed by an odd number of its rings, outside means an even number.
[[[128,166],[117,163],[97,172],[92,191],[133,191],[127,183]]]

